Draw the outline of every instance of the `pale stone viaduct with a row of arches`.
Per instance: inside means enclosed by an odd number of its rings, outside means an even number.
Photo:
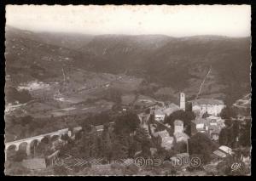
[[[81,130],[82,127],[74,127],[73,128],[73,132],[79,131]],[[5,150],[7,151],[9,149],[10,146],[15,146],[15,150],[19,150],[20,149],[20,144],[26,144],[26,155],[29,156],[31,154],[31,144],[32,142],[37,141],[38,143],[40,143],[42,141],[42,139],[44,139],[45,137],[49,137],[49,139],[53,138],[54,136],[57,137],[61,137],[61,135],[64,134],[68,134],[68,136],[70,136],[69,134],[71,134],[71,132],[68,130],[68,128],[65,129],[61,129],[58,130],[56,132],[52,132],[52,133],[45,133],[45,134],[41,134],[35,137],[31,137],[31,138],[27,138],[27,139],[20,139],[20,140],[15,140],[9,143],[5,143]]]

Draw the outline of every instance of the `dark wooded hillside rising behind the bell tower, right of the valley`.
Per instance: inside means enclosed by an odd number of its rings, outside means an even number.
[[[232,102],[250,91],[249,38],[97,36],[81,52],[85,68],[142,76],[190,98],[210,67],[201,96]]]

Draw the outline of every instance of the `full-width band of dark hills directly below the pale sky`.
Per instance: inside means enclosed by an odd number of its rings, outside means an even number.
[[[176,94],[234,102],[250,92],[250,38],[163,35],[72,35],[6,30],[12,82],[53,81],[69,67],[141,77]],[[211,72],[206,81],[202,80]],[[17,72],[19,72],[17,74]],[[168,93],[167,93],[168,94]]]

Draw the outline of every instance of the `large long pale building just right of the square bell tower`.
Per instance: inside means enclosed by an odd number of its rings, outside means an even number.
[[[222,100],[218,99],[195,99],[192,102],[192,111],[195,113],[208,113],[212,116],[218,116],[225,105]]]

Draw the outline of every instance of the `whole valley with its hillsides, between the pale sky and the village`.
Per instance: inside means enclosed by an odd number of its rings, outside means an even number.
[[[32,116],[76,125],[90,114],[143,106],[142,96],[177,104],[183,91],[188,100],[229,105],[250,92],[249,38],[6,32],[7,122]]]

